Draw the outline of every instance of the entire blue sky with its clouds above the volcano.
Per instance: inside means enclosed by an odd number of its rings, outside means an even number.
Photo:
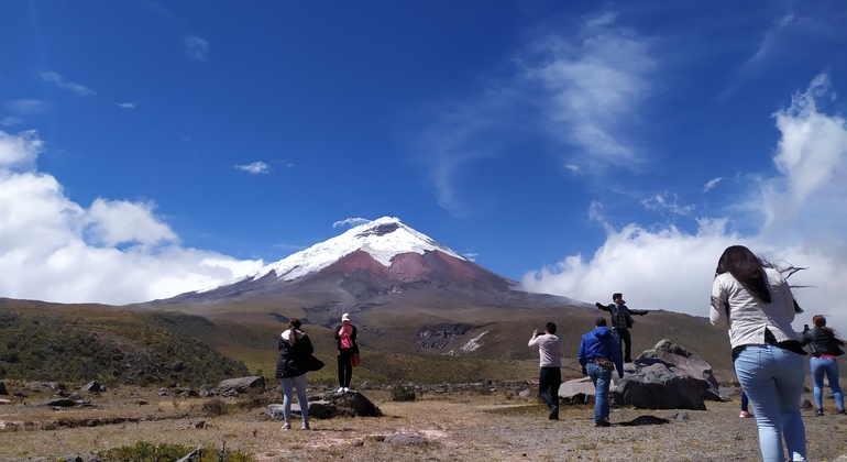
[[[801,305],[847,331],[844,24],[842,1],[3,2],[0,296],[167,297],[393,216],[531,290],[698,316],[746,244],[807,266]]]

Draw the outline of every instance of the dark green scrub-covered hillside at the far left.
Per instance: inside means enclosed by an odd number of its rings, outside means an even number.
[[[191,326],[191,328],[186,328]],[[184,314],[0,304],[0,378],[217,384],[248,375],[191,334],[215,326]]]

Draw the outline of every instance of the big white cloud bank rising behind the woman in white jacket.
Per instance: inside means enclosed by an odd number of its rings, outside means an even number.
[[[774,114],[781,140],[773,161],[780,175],[762,178],[760,188],[727,208],[727,216],[698,218],[693,234],[673,226],[637,223],[615,230],[605,223],[602,205],[593,202],[588,213],[604,223],[606,242],[593,255],[566,256],[528,273],[525,287],[588,302],[607,301],[622,292],[629,294],[632,308],[705,317],[717,258],[728,245],[743,244],[772,263],[807,267],[789,279],[810,286],[795,289],[806,310],[795,328],[823,314],[847,331],[847,312],[833,302],[847,280],[847,186],[842,179],[847,174],[847,123],[816,106],[831,97],[828,77],[822,75]],[[667,201],[654,202],[662,204]],[[755,232],[733,231],[734,223],[754,213],[762,217]]]

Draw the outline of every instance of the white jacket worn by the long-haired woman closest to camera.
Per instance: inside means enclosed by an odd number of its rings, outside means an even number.
[[[771,295],[770,304],[763,302],[747,290],[729,273],[715,277],[708,319],[717,328],[729,329],[729,343],[733,348],[765,344],[766,328],[773,333],[778,342],[798,340],[798,334],[791,327],[795,315],[791,288],[778,271],[765,268],[765,274]]]

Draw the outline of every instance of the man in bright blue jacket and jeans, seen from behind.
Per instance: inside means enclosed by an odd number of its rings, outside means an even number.
[[[594,320],[594,330],[582,336],[580,354],[582,374],[591,377],[594,384],[594,425],[608,427],[608,387],[612,385],[612,371],[617,369],[618,378],[624,378],[624,359],[620,349],[606,327],[606,318]]]

